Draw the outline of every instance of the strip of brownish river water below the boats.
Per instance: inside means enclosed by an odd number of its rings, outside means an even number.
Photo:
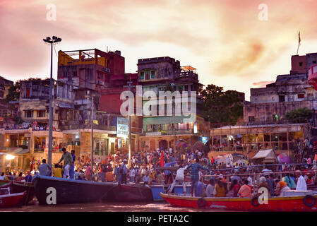
[[[204,210],[178,208],[165,202],[153,203],[76,203],[42,206],[34,201],[28,206],[2,208],[8,212],[223,212],[224,210]]]

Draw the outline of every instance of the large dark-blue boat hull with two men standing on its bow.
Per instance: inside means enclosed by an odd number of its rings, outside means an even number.
[[[47,198],[56,194],[56,204],[92,203],[106,197],[116,183],[88,182],[59,177],[34,177],[35,196],[41,205],[47,205]]]

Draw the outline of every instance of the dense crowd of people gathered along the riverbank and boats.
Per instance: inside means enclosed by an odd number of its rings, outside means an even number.
[[[282,196],[283,191],[289,189],[307,189],[307,185],[314,185],[316,179],[316,159],[313,164],[280,165],[280,174],[262,174],[261,167],[246,163],[236,164],[233,161],[217,162],[210,159],[207,153],[199,150],[174,151],[172,148],[162,150],[143,151],[131,156],[128,167],[128,153],[117,152],[115,155],[95,158],[94,164],[82,162],[76,164],[75,151],[69,153],[62,148],[63,155],[54,165],[42,164],[30,172],[8,172],[1,174],[0,179],[32,182],[35,174],[48,177],[64,177],[68,179],[87,180],[93,182],[119,182],[121,184],[170,184],[168,192],[173,192],[176,184],[183,185],[186,194],[186,183],[191,182],[192,196],[229,196],[249,197],[256,194],[258,189],[265,187],[270,196]],[[64,164],[61,165],[61,162]],[[155,170],[157,167],[172,167],[175,170]],[[176,170],[177,169],[177,170]],[[301,171],[298,169],[301,169]],[[289,171],[295,172],[289,173]],[[282,177],[281,177],[282,175]],[[257,181],[258,179],[258,181]],[[305,189],[305,190],[306,190]]]

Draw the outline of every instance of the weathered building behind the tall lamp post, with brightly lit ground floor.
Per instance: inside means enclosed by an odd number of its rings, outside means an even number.
[[[7,153],[14,153],[11,161],[16,168],[25,168],[30,160],[47,158],[49,140],[49,79],[20,81],[18,117],[22,124],[1,129],[1,147]],[[63,133],[59,126],[65,109],[73,109],[73,87],[54,81],[53,90],[53,162],[61,157]],[[7,164],[4,164],[7,165]]]

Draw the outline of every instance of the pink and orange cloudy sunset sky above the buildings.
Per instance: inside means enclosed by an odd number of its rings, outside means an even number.
[[[56,20],[47,20],[48,4]],[[259,20],[260,4],[268,20]],[[317,52],[314,0],[0,0],[0,75],[16,81],[49,77],[50,48],[42,39],[56,35],[59,50],[119,49],[126,72],[137,59],[173,57],[197,69],[204,85],[246,93],[289,73],[290,57]],[[54,78],[56,78],[54,54]]]

